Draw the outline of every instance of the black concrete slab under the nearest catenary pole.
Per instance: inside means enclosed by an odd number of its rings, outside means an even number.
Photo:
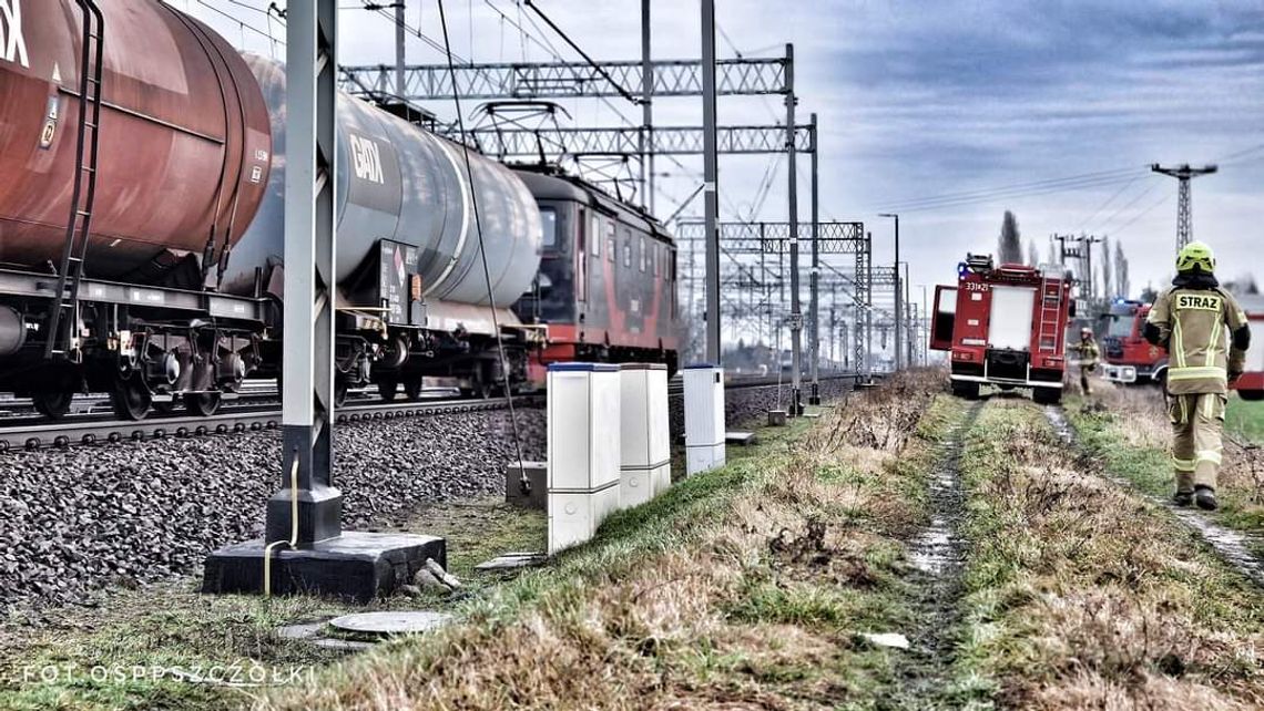
[[[278,547],[283,548],[283,547]],[[262,538],[228,546],[206,558],[202,592],[263,592]],[[348,532],[311,548],[273,549],[272,594],[315,594],[360,604],[389,597],[434,558],[447,563],[442,538]]]

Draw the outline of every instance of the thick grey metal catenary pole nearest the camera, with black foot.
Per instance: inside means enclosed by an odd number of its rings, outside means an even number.
[[[298,499],[298,547],[341,533],[334,489],[334,215],[337,8],[295,3],[286,45],[286,349],[281,490],[268,500],[267,539],[291,537]],[[313,208],[315,206],[315,208]],[[297,465],[298,491],[291,471]]]

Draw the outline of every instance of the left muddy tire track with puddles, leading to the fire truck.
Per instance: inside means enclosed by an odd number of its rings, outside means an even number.
[[[877,708],[951,707],[943,695],[952,681],[959,642],[962,571],[967,556],[966,541],[959,535],[966,515],[961,456],[985,402],[972,403],[966,417],[939,442],[939,462],[930,482],[932,522],[910,544],[914,566],[910,581],[916,586],[913,607],[918,625],[909,635],[909,650],[895,664],[900,686]]]

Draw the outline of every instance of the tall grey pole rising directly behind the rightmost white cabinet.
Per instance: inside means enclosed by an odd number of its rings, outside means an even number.
[[[719,146],[715,135],[715,0],[703,6],[703,201],[707,220],[707,362],[719,366]],[[794,124],[791,124],[793,126]],[[794,130],[791,128],[791,130]]]

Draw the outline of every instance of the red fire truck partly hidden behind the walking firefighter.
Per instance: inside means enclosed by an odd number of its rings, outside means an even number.
[[[1264,299],[1246,296],[1239,297],[1239,302],[1256,340],[1246,351],[1246,373],[1234,386],[1244,400],[1264,400],[1264,342],[1260,342],[1264,340]],[[1111,304],[1110,313],[1101,316],[1106,321],[1102,360],[1107,380],[1160,384],[1165,380],[1168,351],[1152,346],[1143,335],[1149,316],[1150,304],[1138,301],[1117,301]]]

